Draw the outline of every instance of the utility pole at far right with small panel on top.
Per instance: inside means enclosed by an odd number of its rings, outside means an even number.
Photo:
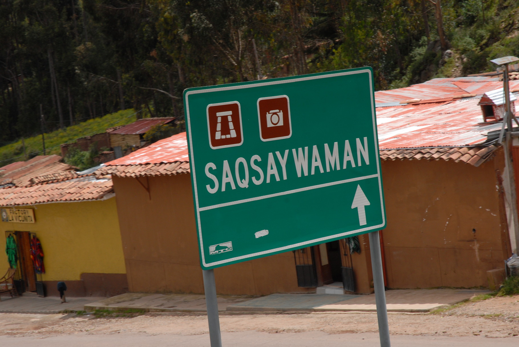
[[[491,60],[490,62],[501,65],[501,70],[503,71],[503,94],[504,94],[504,102],[505,102],[505,111],[503,118],[503,126],[501,127],[501,133],[499,135],[499,143],[503,142],[504,135],[504,161],[507,166],[507,174],[508,174],[508,186],[510,189],[510,205],[511,205],[511,213],[512,213],[512,223],[514,226],[514,235],[515,235],[515,253],[519,253],[519,219],[517,216],[517,194],[516,194],[516,185],[515,185],[515,173],[513,167],[513,156],[512,156],[512,118],[515,118],[515,115],[512,114],[510,108],[510,91],[508,84],[508,64],[518,61],[519,58],[515,56],[504,56],[502,58]],[[507,126],[506,132],[504,126]]]

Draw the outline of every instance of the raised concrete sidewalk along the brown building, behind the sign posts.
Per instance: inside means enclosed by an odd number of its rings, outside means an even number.
[[[386,291],[389,312],[429,312],[453,305],[473,296],[489,293],[481,290],[417,289]],[[142,309],[146,312],[206,312],[203,295],[126,293],[85,305],[85,310]],[[375,312],[375,295],[272,294],[252,298],[218,296],[223,312]]]

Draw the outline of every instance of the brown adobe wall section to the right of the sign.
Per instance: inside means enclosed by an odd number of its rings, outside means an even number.
[[[390,288],[487,287],[510,256],[496,170],[451,161],[383,161]],[[475,232],[473,232],[473,229]]]

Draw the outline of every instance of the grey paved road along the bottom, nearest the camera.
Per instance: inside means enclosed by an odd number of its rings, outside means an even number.
[[[287,334],[268,334],[266,332],[242,331],[224,332],[222,334],[224,347],[378,347],[378,334],[335,334],[327,335],[320,331],[310,331]],[[391,343],[398,347],[516,347],[519,338],[485,338],[473,337],[432,337],[432,336],[391,336]],[[161,334],[100,334],[85,333],[40,337],[10,337],[0,336],[0,346],[36,346],[36,347],[209,347],[209,336],[204,335],[172,335]]]

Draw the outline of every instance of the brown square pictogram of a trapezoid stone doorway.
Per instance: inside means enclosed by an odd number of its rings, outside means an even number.
[[[212,149],[240,146],[243,142],[240,103],[208,105],[207,127]]]

